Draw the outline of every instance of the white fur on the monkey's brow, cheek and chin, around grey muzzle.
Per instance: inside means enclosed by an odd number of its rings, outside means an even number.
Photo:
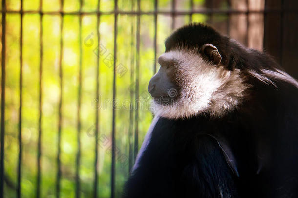
[[[180,94],[171,104],[153,101],[151,109],[155,116],[178,119],[209,113],[219,117],[234,110],[249,87],[239,76],[239,70],[228,71],[196,53],[174,50],[161,56],[178,63],[174,67]]]

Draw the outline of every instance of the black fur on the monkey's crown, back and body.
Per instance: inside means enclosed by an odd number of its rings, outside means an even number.
[[[274,69],[268,55],[244,48],[212,28],[192,24],[174,32],[166,51],[216,46],[228,69],[238,68],[252,87],[244,103],[222,117],[160,118],[124,198],[298,198],[298,88],[248,75]],[[199,53],[199,50],[198,50]],[[225,139],[235,174],[220,147]]]

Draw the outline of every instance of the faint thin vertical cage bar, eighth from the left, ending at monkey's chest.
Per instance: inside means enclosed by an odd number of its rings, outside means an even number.
[[[135,1],[132,0],[131,3],[131,10],[133,11],[135,6]],[[130,109],[129,109],[129,129],[128,129],[128,144],[129,144],[129,156],[128,156],[128,172],[130,173],[132,166],[133,166],[133,145],[132,145],[132,133],[133,133],[133,111],[134,111],[134,105],[133,105],[133,94],[134,94],[134,22],[135,17],[134,15],[131,16],[131,41],[130,41],[130,47],[131,47],[131,59],[130,59]]]

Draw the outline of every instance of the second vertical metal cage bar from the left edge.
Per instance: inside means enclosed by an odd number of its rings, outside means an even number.
[[[21,198],[21,160],[22,160],[22,139],[21,139],[21,113],[22,113],[22,68],[23,68],[23,0],[21,0],[21,25],[20,25],[20,107],[19,107],[19,163],[18,163],[18,183],[17,198]]]

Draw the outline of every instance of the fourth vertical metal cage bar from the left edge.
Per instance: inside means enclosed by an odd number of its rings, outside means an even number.
[[[60,80],[60,97],[58,104],[58,150],[57,150],[57,176],[56,176],[56,198],[60,198],[60,181],[61,181],[61,127],[62,127],[62,97],[63,97],[63,4],[64,0],[60,0],[60,56],[59,56],[59,80]]]

